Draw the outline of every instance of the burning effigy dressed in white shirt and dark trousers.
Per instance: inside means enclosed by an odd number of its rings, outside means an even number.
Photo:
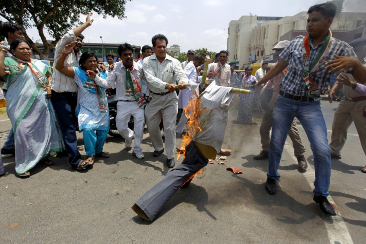
[[[199,113],[197,118],[193,118],[193,121],[198,124],[194,126],[195,131],[190,131],[192,138],[185,146],[182,164],[169,171],[158,184],[132,206],[132,209],[145,220],[154,220],[179,188],[184,187],[185,184],[187,186],[191,176],[207,165],[208,158],[215,158],[216,153],[220,151],[225,135],[229,104],[234,93],[230,92],[231,87],[217,86],[212,81],[200,94],[199,85],[191,85],[199,100],[199,103],[196,103]]]

